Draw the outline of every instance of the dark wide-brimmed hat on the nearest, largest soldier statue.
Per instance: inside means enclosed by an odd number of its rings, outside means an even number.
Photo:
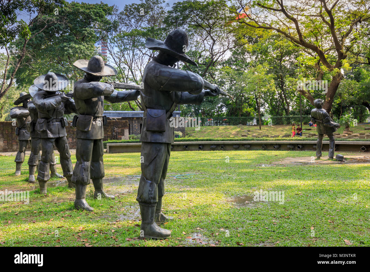
[[[186,56],[185,51],[188,47],[188,34],[184,30],[175,29],[168,34],[164,41],[147,38],[145,47],[151,50],[159,50],[179,60],[198,66],[189,56]],[[185,49],[185,50],[184,50]]]

